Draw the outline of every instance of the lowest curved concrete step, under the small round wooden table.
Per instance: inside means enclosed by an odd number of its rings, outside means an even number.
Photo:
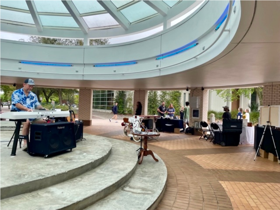
[[[166,187],[167,169],[159,156],[144,157],[134,175],[118,190],[85,210],[156,209]]]

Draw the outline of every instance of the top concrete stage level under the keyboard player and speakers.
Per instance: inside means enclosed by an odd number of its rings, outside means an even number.
[[[7,147],[12,131],[1,131],[1,199],[21,195],[69,180],[104,163],[112,144],[103,137],[85,134],[73,150],[48,158],[29,156],[19,146],[16,156]]]

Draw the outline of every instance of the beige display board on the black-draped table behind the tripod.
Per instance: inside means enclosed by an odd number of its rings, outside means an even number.
[[[276,106],[260,106],[260,125],[266,125],[270,122],[270,126],[280,128],[280,105]]]

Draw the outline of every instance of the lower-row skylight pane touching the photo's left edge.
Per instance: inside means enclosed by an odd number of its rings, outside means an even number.
[[[0,14],[1,20],[35,24],[31,14],[29,13],[3,10],[3,9],[0,9],[0,12],[1,12]]]

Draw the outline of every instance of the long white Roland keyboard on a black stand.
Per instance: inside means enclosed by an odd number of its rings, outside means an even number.
[[[55,111],[55,110],[34,110],[33,112],[4,112],[0,115],[0,118],[21,120],[32,118],[52,118],[52,117],[68,117],[69,111]]]

